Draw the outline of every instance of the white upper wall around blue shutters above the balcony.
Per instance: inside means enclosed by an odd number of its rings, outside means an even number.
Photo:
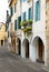
[[[28,9],[31,8],[32,9],[32,0],[30,2],[22,2],[22,11],[21,11],[21,16],[23,12],[26,12],[26,19],[28,20]]]

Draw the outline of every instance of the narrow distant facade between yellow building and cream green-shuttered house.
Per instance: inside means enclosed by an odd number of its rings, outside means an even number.
[[[11,16],[9,14],[9,11],[7,10],[7,20],[6,20],[6,31],[8,32],[8,50],[11,48]]]

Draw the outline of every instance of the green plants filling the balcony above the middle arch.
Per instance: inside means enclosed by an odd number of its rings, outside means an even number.
[[[23,28],[21,29],[23,32],[31,31],[31,30],[32,30],[32,21],[31,21],[31,20],[22,21],[22,22],[21,22],[21,27],[23,27]]]

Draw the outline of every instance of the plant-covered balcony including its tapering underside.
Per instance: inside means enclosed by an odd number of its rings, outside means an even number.
[[[22,21],[20,25],[24,34],[29,35],[32,32],[32,20]]]

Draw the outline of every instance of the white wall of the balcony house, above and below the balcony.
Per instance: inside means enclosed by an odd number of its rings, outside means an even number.
[[[29,8],[32,8],[32,0],[30,2],[27,2],[27,1],[22,2],[21,16],[22,16],[23,12],[26,12],[26,19],[27,20],[28,20],[28,9]],[[26,37],[24,37],[23,32],[22,32],[22,40],[21,40],[21,56],[22,58],[26,58],[26,49],[24,49],[23,43],[22,43],[24,39],[26,39]],[[27,39],[30,40],[29,38],[27,38]]]

